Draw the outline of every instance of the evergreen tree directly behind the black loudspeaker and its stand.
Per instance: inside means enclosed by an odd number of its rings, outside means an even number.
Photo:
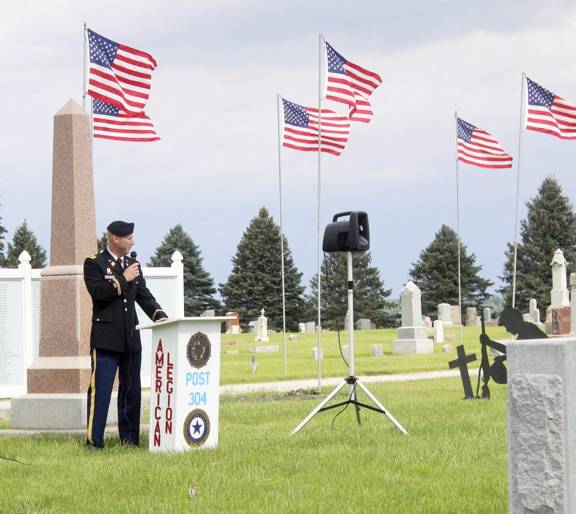
[[[376,324],[376,328],[396,326],[393,314],[394,302],[388,301],[392,292],[384,289],[377,268],[370,266],[370,252],[354,252],[352,264],[354,279],[354,321],[367,318]],[[328,273],[327,270],[328,264]],[[345,252],[325,254],[320,266],[320,318],[322,328],[340,330],[344,328],[344,317],[348,312],[348,258]],[[318,273],[310,280],[308,300],[308,318],[318,320]],[[351,320],[348,320],[351,326]]]

